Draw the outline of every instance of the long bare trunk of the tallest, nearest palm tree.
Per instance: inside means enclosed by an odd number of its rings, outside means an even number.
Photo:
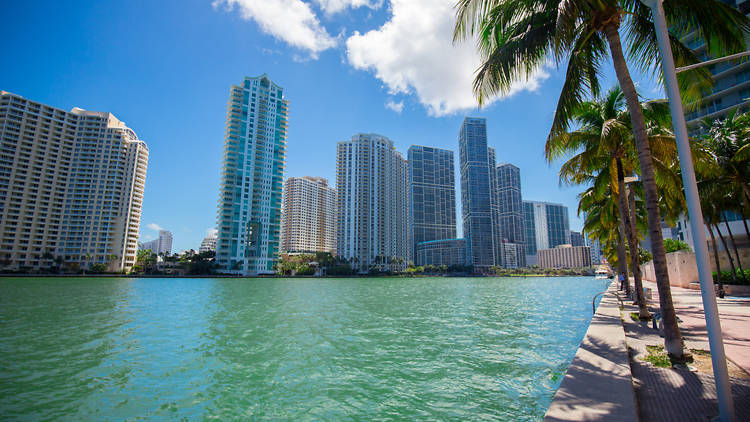
[[[654,272],[656,273],[656,286],[659,289],[659,306],[661,308],[662,321],[664,321],[664,347],[667,353],[677,359],[684,354],[682,346],[682,335],[677,325],[677,315],[672,303],[672,289],[669,285],[669,272],[667,270],[667,256],[664,251],[664,239],[661,234],[661,215],[659,213],[659,196],[656,192],[656,181],[654,179],[654,163],[651,160],[651,147],[646,135],[646,120],[643,117],[641,103],[638,93],[630,78],[627,62],[622,53],[620,43],[619,20],[611,22],[604,27],[607,43],[612,54],[612,62],[615,66],[617,80],[622,87],[623,95],[628,103],[630,111],[630,122],[633,125],[633,137],[638,149],[638,161],[641,165],[641,180],[646,196],[646,211],[648,214],[648,231],[651,237],[651,253],[654,256]]]

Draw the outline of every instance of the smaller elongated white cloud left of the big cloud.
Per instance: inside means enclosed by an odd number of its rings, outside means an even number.
[[[317,58],[337,40],[320,24],[310,5],[302,0],[214,0],[213,6],[239,9],[243,19],[254,20],[261,30]]]

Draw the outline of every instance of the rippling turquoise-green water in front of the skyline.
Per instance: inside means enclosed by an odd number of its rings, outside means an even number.
[[[0,420],[538,420],[608,283],[0,278]]]

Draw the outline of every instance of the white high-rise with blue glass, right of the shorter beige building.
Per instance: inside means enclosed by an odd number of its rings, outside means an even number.
[[[406,267],[407,179],[407,162],[388,138],[361,133],[338,143],[336,254],[360,272]]]

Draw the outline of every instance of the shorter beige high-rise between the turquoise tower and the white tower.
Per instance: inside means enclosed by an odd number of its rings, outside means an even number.
[[[290,177],[281,204],[282,252],[336,253],[336,190],[322,177]]]

